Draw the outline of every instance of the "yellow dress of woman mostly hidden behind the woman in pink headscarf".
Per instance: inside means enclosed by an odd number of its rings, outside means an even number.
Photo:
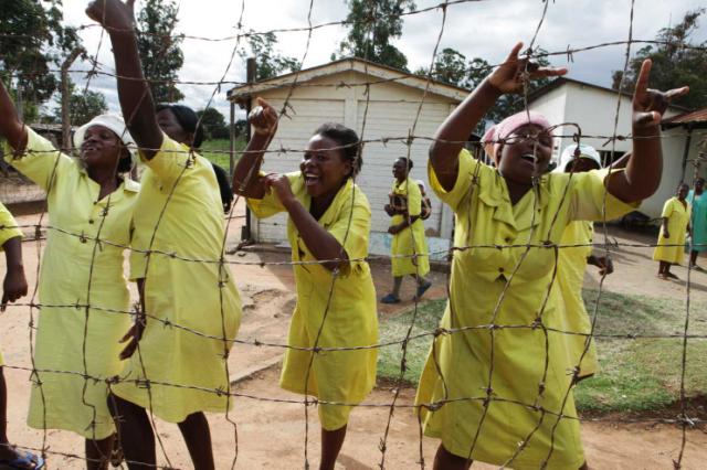
[[[562,234],[561,245],[583,245],[577,247],[560,248],[560,257],[557,264],[557,281],[560,286],[560,293],[567,313],[562,316],[566,320],[564,331],[576,333],[589,333],[592,323],[584,307],[582,298],[582,287],[584,285],[584,271],[587,270],[587,258],[591,256],[593,249],[591,243],[594,237],[594,227],[591,222],[571,222]],[[588,337],[568,334],[568,352],[570,354],[570,365],[580,365],[579,376],[585,377],[599,371],[597,359],[597,345],[594,339],[589,340],[589,349],[580,364],[580,357],[584,352],[584,344]]]

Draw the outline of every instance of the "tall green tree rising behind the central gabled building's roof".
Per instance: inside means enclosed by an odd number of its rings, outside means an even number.
[[[402,13],[413,10],[413,0],[346,0],[349,33],[339,45],[342,56],[367,58],[408,71],[408,57],[391,40],[402,35]]]

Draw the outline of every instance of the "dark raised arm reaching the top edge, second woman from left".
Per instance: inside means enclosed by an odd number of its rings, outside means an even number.
[[[134,4],[135,0],[126,0],[125,3],[120,0],[95,0],[86,9],[86,14],[101,23],[110,36],[123,117],[141,149],[140,153],[150,160],[161,147],[163,137],[137,50]]]

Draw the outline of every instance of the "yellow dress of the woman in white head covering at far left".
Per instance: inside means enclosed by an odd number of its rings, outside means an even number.
[[[59,152],[31,129],[28,133],[27,153],[13,159],[7,149],[4,157],[48,191],[44,223],[50,228],[40,271],[43,307],[34,346],[39,372],[32,374],[28,424],[104,439],[115,426],[102,380],[123,368],[118,341],[130,325],[130,316],[120,313],[130,310],[123,247],[130,243],[139,184],[126,179],[98,201],[101,186],[78,160]],[[95,237],[110,243],[97,244]],[[95,308],[68,307],[75,305]],[[84,380],[80,375],[84,373],[97,381]]]

